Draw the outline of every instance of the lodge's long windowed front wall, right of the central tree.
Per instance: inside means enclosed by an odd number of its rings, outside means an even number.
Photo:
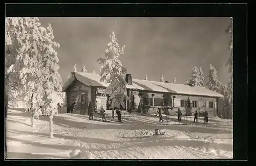
[[[143,101],[141,97],[147,99]],[[148,114],[155,114],[159,108],[170,115],[177,115],[178,108],[185,115],[193,115],[195,111],[206,110],[209,116],[216,116],[218,111],[217,98],[132,90],[131,101],[134,110],[138,111],[141,100],[144,102],[143,113]],[[174,107],[173,110],[170,109],[172,107]]]

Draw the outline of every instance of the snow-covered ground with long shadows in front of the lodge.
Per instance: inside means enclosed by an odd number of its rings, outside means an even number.
[[[232,158],[232,121],[209,118],[208,124],[175,116],[130,115],[123,123],[102,122],[86,115],[54,116],[54,138],[49,138],[49,117],[40,116],[30,126],[30,112],[9,109],[6,119],[7,158],[89,158],[89,159],[193,159]],[[194,119],[192,120],[194,121]],[[190,123],[188,123],[190,122]],[[183,125],[186,123],[186,125]],[[160,129],[164,135],[153,136]]]

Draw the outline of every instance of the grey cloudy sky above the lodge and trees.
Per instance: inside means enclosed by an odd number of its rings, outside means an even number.
[[[63,84],[74,64],[78,72],[85,64],[89,72],[99,73],[96,62],[104,57],[106,45],[115,32],[119,45],[125,44],[120,60],[133,78],[164,79],[183,84],[194,66],[202,66],[205,83],[209,64],[217,69],[219,79],[230,77],[225,66],[229,56],[230,34],[224,32],[229,17],[39,17],[42,26],[51,23]]]

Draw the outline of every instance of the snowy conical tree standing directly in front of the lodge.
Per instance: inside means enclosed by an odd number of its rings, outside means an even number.
[[[102,65],[100,72],[100,81],[105,81],[110,85],[106,87],[105,94],[110,94],[110,100],[112,108],[112,117],[114,118],[114,108],[120,107],[120,104],[124,107],[124,100],[129,100],[129,97],[125,94],[126,82],[125,74],[126,69],[122,66],[121,61],[118,59],[120,55],[124,54],[124,47],[119,46],[115,33],[110,35],[110,43],[105,50],[105,58],[99,58],[97,62]]]

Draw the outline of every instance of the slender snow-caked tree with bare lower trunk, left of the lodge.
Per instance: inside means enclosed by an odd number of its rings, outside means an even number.
[[[44,54],[43,54],[43,70],[44,79],[44,105],[42,106],[42,112],[45,115],[50,115],[50,137],[53,137],[53,116],[58,112],[58,104],[63,104],[62,93],[62,79],[59,70],[59,59],[57,52],[53,48],[59,48],[59,43],[52,41],[54,39],[53,30],[51,25],[46,29],[42,29],[44,36],[46,37],[44,42]]]

